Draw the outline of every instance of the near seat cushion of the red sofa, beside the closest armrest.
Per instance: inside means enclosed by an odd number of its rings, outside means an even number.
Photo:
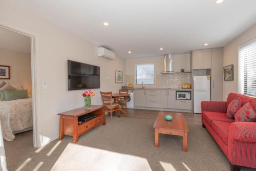
[[[211,123],[212,130],[214,130],[221,140],[227,145],[228,129],[231,123],[214,120]]]

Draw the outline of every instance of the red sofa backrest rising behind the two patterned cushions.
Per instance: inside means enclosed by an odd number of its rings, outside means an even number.
[[[256,111],[256,97],[252,97],[252,96],[246,96],[244,94],[239,94],[239,93],[229,93],[228,97],[227,97],[227,105],[234,99],[240,97],[242,100],[242,106],[247,103],[250,102],[252,105],[252,108],[254,109],[254,111]]]

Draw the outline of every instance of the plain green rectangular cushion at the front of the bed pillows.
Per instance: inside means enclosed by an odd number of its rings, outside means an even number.
[[[4,93],[6,101],[29,98],[28,90],[10,90],[4,91]]]

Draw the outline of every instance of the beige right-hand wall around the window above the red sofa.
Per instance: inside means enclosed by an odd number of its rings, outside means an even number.
[[[223,81],[223,100],[231,92],[238,92],[238,49],[239,46],[256,36],[256,25],[252,26],[240,36],[224,47],[223,66],[234,65],[234,80]]]

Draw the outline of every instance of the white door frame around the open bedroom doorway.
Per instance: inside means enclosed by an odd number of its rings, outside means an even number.
[[[26,36],[29,36],[31,39],[31,80],[32,80],[32,106],[33,106],[33,146],[40,147],[41,146],[41,136],[39,132],[41,132],[40,126],[40,83],[39,83],[39,72],[38,72],[38,62],[36,55],[36,45],[38,45],[38,35],[34,34],[28,30],[24,30],[22,28],[18,28],[16,26],[10,25],[8,23],[2,22],[0,20],[0,28],[4,28],[7,30],[14,31],[16,33],[20,33]],[[38,88],[39,87],[39,88]]]

